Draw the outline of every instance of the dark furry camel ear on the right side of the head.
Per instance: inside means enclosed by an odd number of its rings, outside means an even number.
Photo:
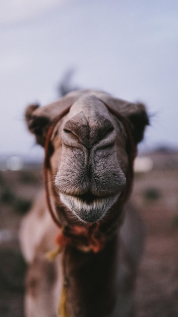
[[[136,143],[141,142],[144,137],[145,127],[149,125],[149,117],[145,106],[142,103],[130,104],[125,116],[131,124],[133,139]]]

